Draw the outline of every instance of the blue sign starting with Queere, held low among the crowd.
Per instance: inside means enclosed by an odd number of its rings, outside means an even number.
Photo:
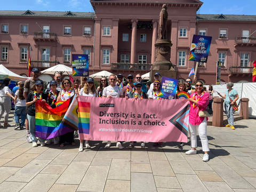
[[[174,99],[177,86],[178,86],[178,79],[174,79],[171,77],[162,77],[161,85],[162,85],[162,93],[165,99]]]

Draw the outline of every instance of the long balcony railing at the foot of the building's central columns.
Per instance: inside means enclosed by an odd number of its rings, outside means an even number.
[[[111,69],[122,70],[150,70],[151,66],[149,63],[111,63]]]

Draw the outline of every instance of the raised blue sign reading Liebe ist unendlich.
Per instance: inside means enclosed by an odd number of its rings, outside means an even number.
[[[212,37],[194,35],[190,47],[189,61],[207,62]]]

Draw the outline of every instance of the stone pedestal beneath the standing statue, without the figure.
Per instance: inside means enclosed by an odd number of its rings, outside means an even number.
[[[156,47],[156,60],[153,63],[150,71],[151,82],[154,81],[155,73],[161,76],[176,78],[177,71],[172,67],[171,57],[172,42],[167,39],[157,40]]]

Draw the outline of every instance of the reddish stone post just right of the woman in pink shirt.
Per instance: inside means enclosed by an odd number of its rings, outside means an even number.
[[[213,97],[212,126],[223,127],[223,102],[224,99]]]

